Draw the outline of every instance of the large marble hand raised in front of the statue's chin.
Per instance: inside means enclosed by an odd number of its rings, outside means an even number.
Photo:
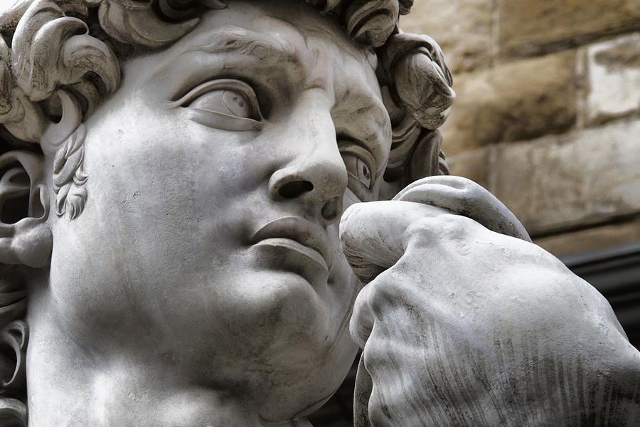
[[[368,283],[351,319],[356,426],[638,425],[640,353],[602,295],[471,181],[395,199],[341,222]]]

